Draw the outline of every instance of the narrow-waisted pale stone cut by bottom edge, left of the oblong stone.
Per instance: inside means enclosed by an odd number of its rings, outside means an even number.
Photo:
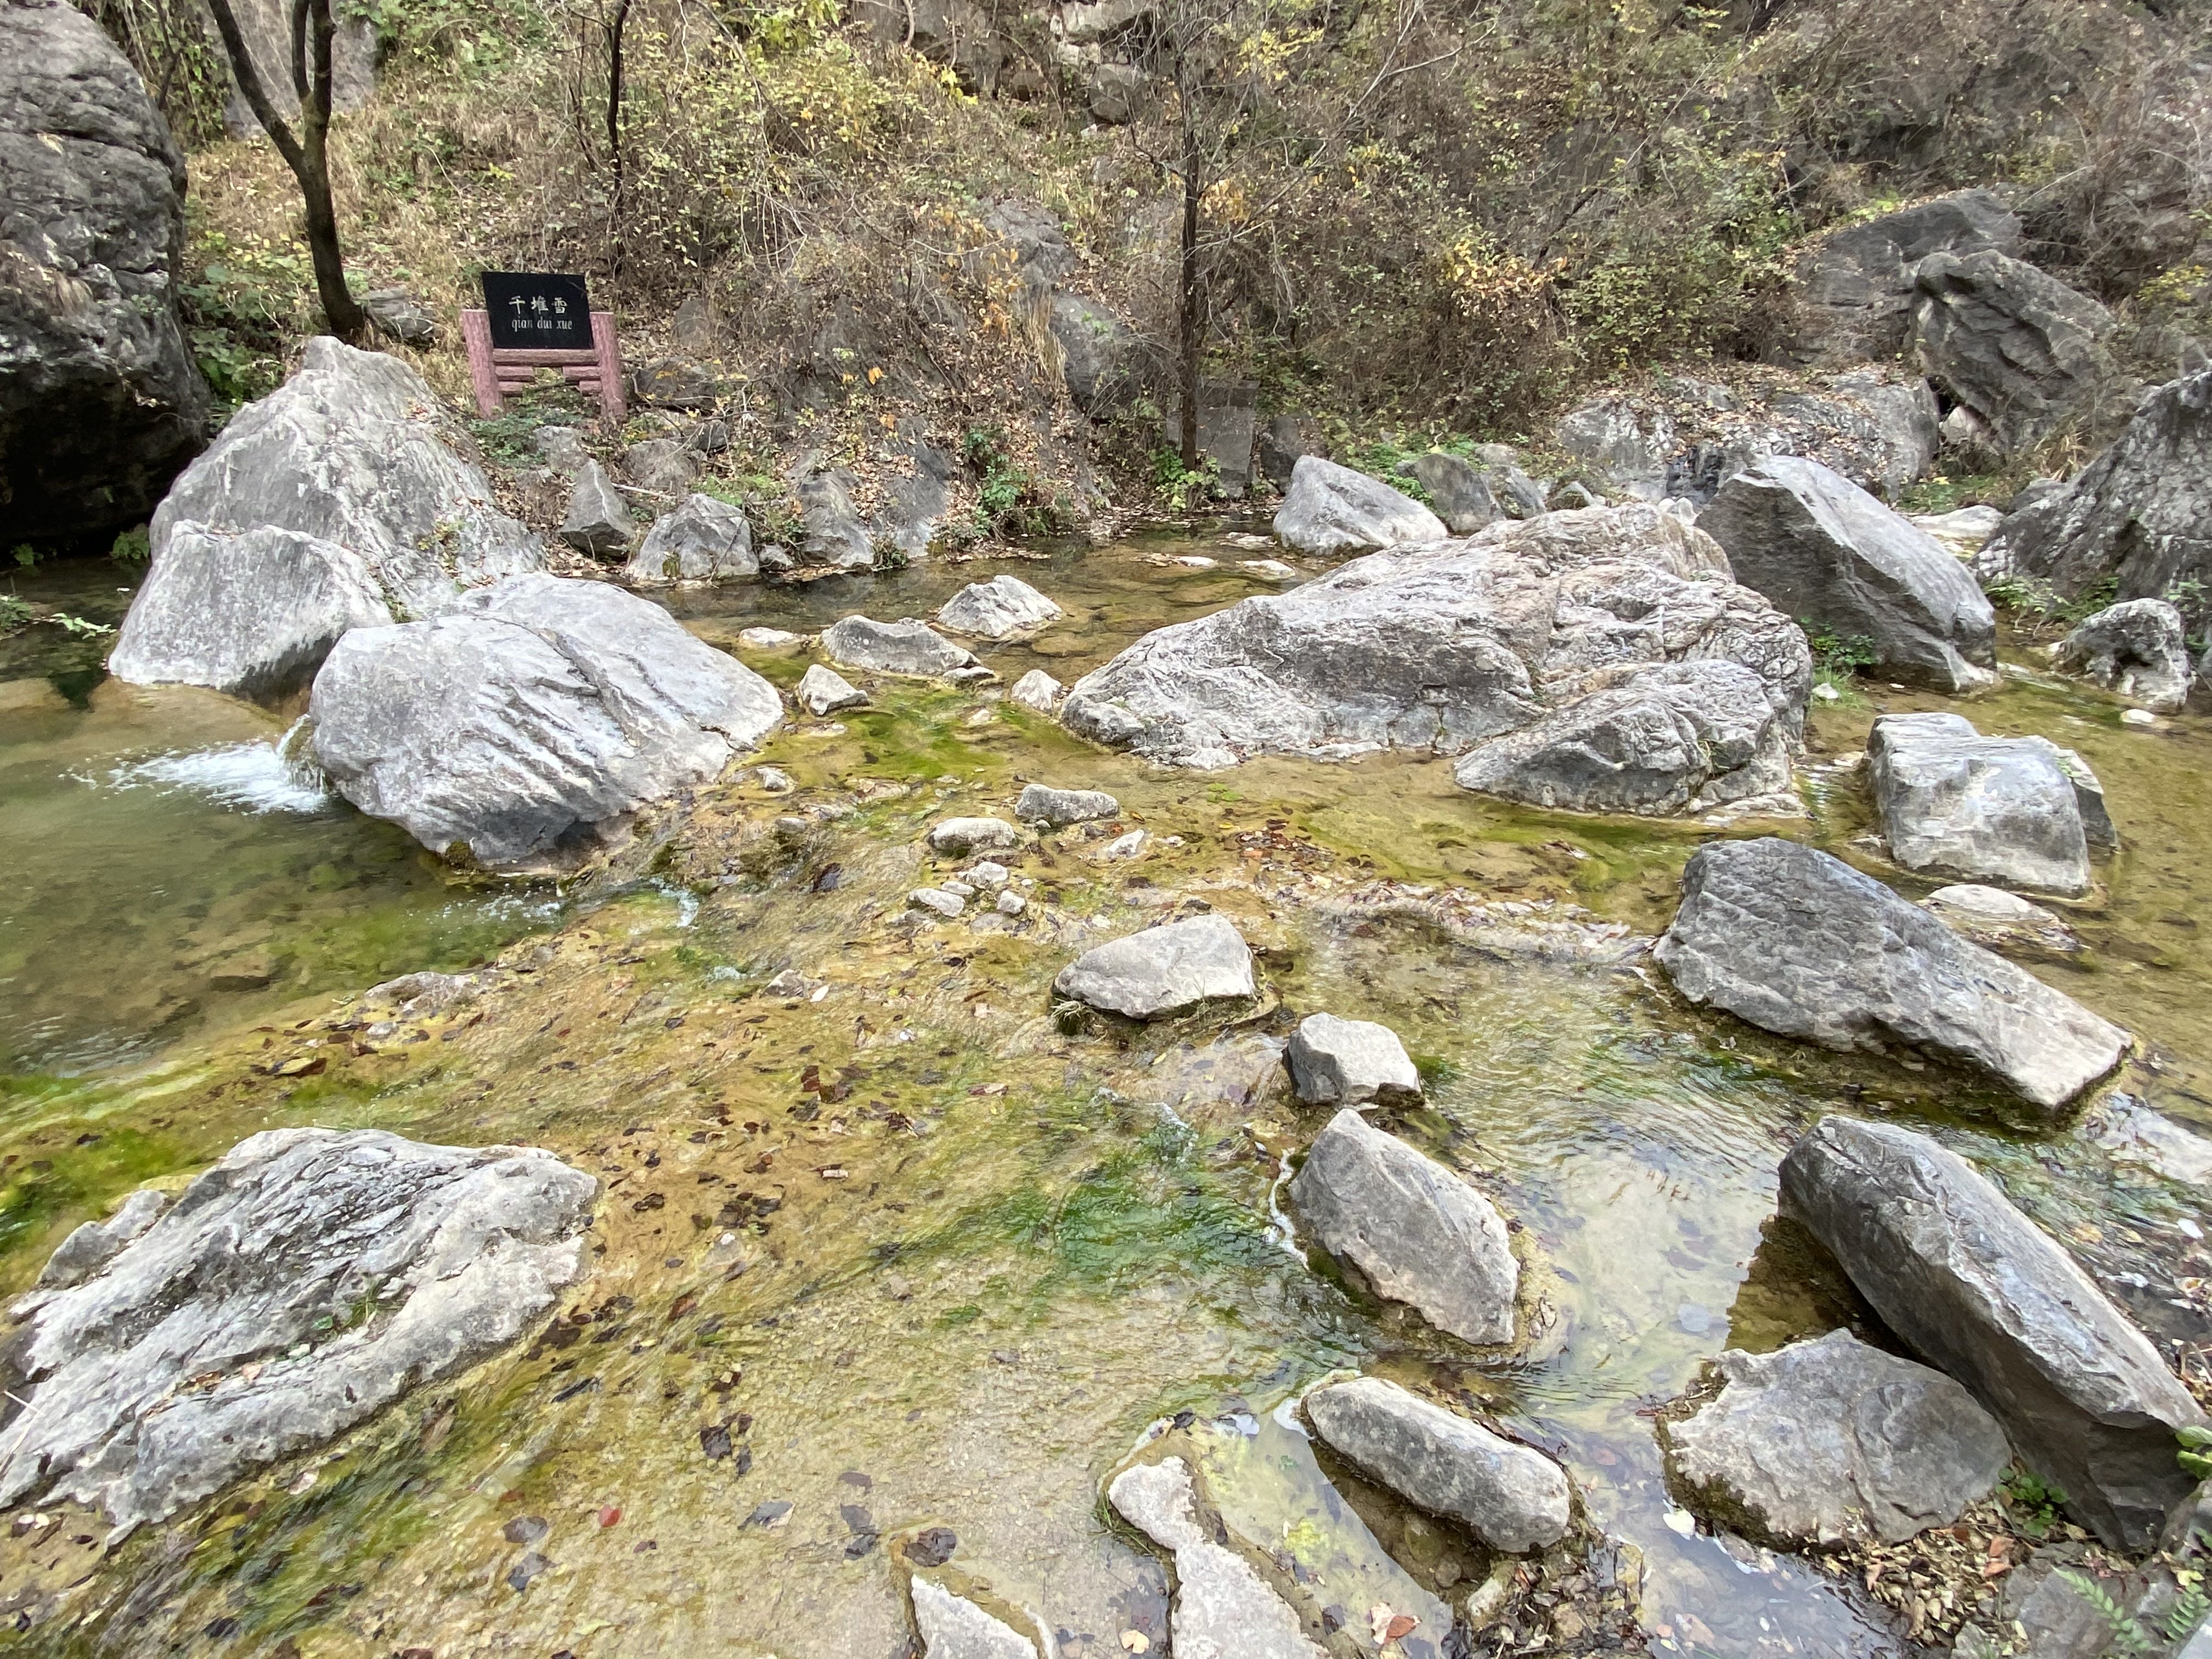
[[[1327,1659],[1267,1579],[1199,1526],[1197,1493],[1181,1458],[1124,1469],[1106,1500],[1175,1557],[1168,1639],[1179,1659]]]

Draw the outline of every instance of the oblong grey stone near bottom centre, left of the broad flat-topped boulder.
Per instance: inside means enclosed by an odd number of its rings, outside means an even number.
[[[1365,1475],[1495,1551],[1517,1555],[1566,1537],[1573,1486],[1559,1464],[1396,1383],[1332,1383],[1305,1396],[1305,1416]]]

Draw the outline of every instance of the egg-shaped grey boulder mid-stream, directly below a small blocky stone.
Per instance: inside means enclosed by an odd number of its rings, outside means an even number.
[[[1378,1296],[1462,1343],[1513,1340],[1520,1263],[1506,1223],[1436,1159],[1345,1108],[1307,1148],[1290,1201],[1321,1248]]]

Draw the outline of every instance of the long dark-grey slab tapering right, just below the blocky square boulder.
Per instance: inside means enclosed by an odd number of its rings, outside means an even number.
[[[1690,1002],[1823,1048],[1920,1048],[2051,1117],[2128,1051],[2119,1026],[1794,841],[1699,847],[1652,956]]]

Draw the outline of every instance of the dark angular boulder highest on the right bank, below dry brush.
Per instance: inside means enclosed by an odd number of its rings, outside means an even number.
[[[2022,456],[2097,394],[2112,314],[2057,276],[1995,250],[1913,268],[1909,354],[1955,405],[1944,431]]]

